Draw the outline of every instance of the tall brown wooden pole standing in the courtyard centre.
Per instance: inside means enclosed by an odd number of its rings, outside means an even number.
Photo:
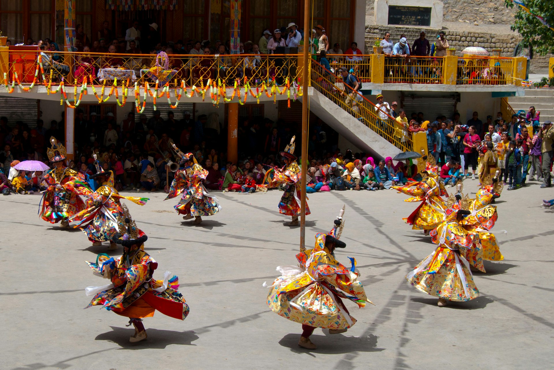
[[[302,159],[300,179],[300,251],[304,251],[306,241],[306,173],[308,158],[308,80],[310,79],[310,0],[304,0],[304,55],[302,61]]]

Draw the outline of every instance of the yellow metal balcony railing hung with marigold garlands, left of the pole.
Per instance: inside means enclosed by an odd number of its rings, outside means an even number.
[[[52,76],[54,81],[63,77],[66,84],[75,81],[81,84],[85,77],[93,77],[95,85],[104,80],[160,81],[160,85],[170,82],[178,86],[185,81],[186,86],[206,85],[209,79],[222,81],[233,86],[237,80],[250,82],[250,85],[275,80],[284,85],[287,77],[297,81],[301,78],[299,59],[285,55],[168,55],[160,54],[102,54],[102,53],[44,53],[25,51],[25,59],[19,58],[20,52],[12,52],[9,61],[8,80],[11,81],[14,72],[20,82],[30,84],[35,77],[37,61],[40,60],[44,77]],[[37,81],[42,81],[42,72],[38,73]],[[90,81],[89,81],[90,84]]]

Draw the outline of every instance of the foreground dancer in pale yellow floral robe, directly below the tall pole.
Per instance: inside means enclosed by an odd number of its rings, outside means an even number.
[[[270,288],[269,308],[285,319],[302,324],[300,347],[316,348],[310,341],[316,327],[335,334],[345,332],[356,323],[341,299],[349,299],[360,308],[371,303],[357,280],[360,273],[355,268],[356,260],[349,257],[352,263],[349,269],[335,259],[335,248],[346,247],[338,240],[344,225],[343,210],[329,234],[316,234],[314,249],[301,249],[296,254],[298,267],[279,266],[281,276],[271,286],[264,283]]]

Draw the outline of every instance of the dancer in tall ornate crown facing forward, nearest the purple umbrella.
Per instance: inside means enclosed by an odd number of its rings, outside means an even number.
[[[92,191],[84,175],[64,165],[64,145],[58,143],[54,137],[50,137],[50,143],[52,147],[47,149],[47,154],[54,168],[43,178],[48,187],[41,200],[42,206],[39,204],[40,217],[50,223],[61,221],[61,227],[69,227],[68,219],[85,209],[85,201],[80,195],[89,195]]]

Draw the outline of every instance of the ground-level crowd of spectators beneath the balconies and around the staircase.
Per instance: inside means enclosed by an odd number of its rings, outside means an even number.
[[[409,136],[425,132],[429,155],[435,158],[440,178],[447,186],[453,186],[458,179],[483,181],[496,168],[509,190],[535,179],[542,181],[541,187],[550,186],[554,129],[549,121],[541,124],[540,112],[534,107],[527,113],[514,114],[507,121],[499,112],[494,121],[488,116],[483,122],[478,112],[474,112],[463,123],[457,112],[452,119],[440,116],[433,122],[425,119],[422,112],[413,112],[408,121],[406,112],[397,109],[396,102],[389,105],[382,96],[378,96],[377,105],[379,111],[396,116],[394,124],[402,129],[394,128],[395,134]],[[385,127],[389,122],[390,119],[383,119]],[[528,132],[528,126],[533,128],[532,133]],[[23,191],[39,189],[42,174],[25,174],[28,178],[25,183],[13,166],[28,159],[48,164],[45,154],[49,138],[63,139],[63,128],[63,121],[52,121],[47,130],[40,119],[33,129],[22,122],[10,127],[7,118],[0,117],[0,142],[3,143],[0,164],[7,180]],[[175,143],[183,152],[192,152],[208,171],[204,181],[208,189],[253,192],[260,188],[257,185],[264,184],[268,169],[281,166],[279,152],[296,134],[296,129],[296,123],[269,119],[244,121],[238,129],[239,161],[230,163],[224,146],[226,132],[217,113],[201,114],[195,120],[190,112],[184,112],[183,119],[177,121],[173,112],[161,117],[156,111],[153,117],[141,114],[138,119],[134,112],[129,112],[125,119],[116,122],[112,113],[99,119],[95,112],[85,117],[78,110],[76,155],[66,165],[84,175],[94,174],[97,169],[93,155],[96,154],[104,170],[114,171],[117,189],[156,191],[164,189],[173,179],[169,168],[171,162],[178,162],[171,145]],[[412,160],[394,164],[390,157],[376,160],[349,149],[342,153],[337,148],[337,138],[337,133],[320,119],[311,127],[305,180],[308,192],[376,191],[420,176]]]

